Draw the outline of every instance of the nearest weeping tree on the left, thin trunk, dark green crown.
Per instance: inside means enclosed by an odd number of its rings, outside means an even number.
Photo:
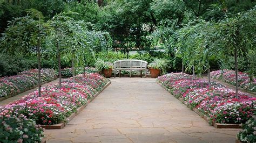
[[[45,37],[50,27],[44,22],[41,12],[30,9],[25,17],[14,18],[2,37],[4,52],[9,54],[37,54],[38,58],[38,96],[41,96],[41,55]]]

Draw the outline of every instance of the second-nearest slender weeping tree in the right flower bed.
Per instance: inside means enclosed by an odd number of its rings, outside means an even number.
[[[218,49],[214,47],[214,39],[216,35],[213,31],[213,23],[199,20],[199,23],[192,26],[194,32],[190,34],[188,39],[188,46],[186,56],[188,60],[192,61],[188,63],[188,67],[195,68],[200,75],[207,70],[208,84],[211,88],[211,76],[210,76],[210,58],[214,56],[218,58]],[[194,63],[197,63],[196,66]]]

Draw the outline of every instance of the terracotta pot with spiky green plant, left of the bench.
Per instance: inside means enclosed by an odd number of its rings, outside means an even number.
[[[104,74],[105,77],[110,78],[113,70],[113,63],[104,62],[103,60],[97,60],[95,68]]]

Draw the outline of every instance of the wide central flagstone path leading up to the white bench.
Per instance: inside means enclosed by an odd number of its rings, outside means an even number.
[[[235,142],[238,129],[217,129],[156,83],[156,78],[111,78],[62,130],[45,130],[47,142]]]

